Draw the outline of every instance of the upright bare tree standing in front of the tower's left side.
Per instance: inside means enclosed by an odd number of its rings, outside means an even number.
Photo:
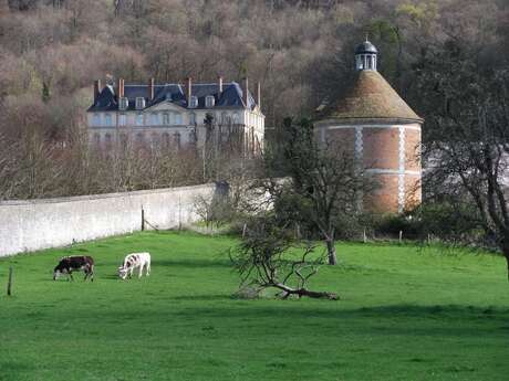
[[[337,221],[360,214],[360,200],[370,191],[370,181],[351,147],[335,141],[319,147],[312,129],[310,120],[285,120],[283,158],[279,158],[280,162],[271,160],[269,166],[276,166],[279,174],[289,176],[290,181],[269,189],[277,190],[274,208],[281,218],[318,232],[325,243],[329,264],[335,265]]]

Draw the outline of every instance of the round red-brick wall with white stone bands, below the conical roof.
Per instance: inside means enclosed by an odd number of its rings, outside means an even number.
[[[402,213],[418,205],[420,190],[420,125],[344,126],[320,123],[316,138],[349,147],[362,159],[375,190],[364,197],[364,209],[375,213]]]

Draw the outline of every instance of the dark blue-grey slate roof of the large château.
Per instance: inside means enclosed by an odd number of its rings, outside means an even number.
[[[193,109],[204,109],[205,97],[212,95],[215,97],[215,106],[211,108],[246,108],[243,102],[242,87],[237,82],[224,83],[222,93],[219,95],[219,85],[217,83],[201,84],[195,83],[191,85],[191,94],[198,97],[198,107]],[[145,98],[145,108],[152,107],[165,100],[187,108],[187,99],[185,87],[180,84],[164,84],[154,85],[154,99],[148,99],[148,85],[125,84],[124,96],[127,97],[129,105],[128,110],[136,109],[136,97]],[[248,107],[253,109],[256,106],[254,98],[248,92]],[[107,85],[98,94],[96,102],[89,107],[87,112],[113,112],[118,109],[118,97],[116,88]],[[209,109],[209,108],[207,108]]]

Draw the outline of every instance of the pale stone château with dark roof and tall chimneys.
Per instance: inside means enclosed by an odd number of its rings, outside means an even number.
[[[122,144],[162,144],[173,149],[202,147],[215,141],[233,141],[243,154],[263,149],[264,115],[261,89],[254,97],[248,78],[236,82],[183,84],[125,84],[102,86],[94,82],[94,103],[87,109],[91,144],[108,149]]]

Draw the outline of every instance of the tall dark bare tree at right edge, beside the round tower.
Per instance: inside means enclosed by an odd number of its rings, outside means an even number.
[[[475,205],[509,277],[509,67],[489,44],[455,39],[420,63],[428,200]],[[461,218],[458,213],[458,218]]]

